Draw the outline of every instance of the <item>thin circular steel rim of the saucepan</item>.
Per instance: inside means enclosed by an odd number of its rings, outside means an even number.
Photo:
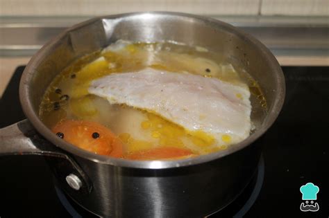
[[[36,71],[34,70],[35,66],[37,66],[38,62],[42,60],[44,54],[46,54],[53,45],[58,43],[60,39],[65,37],[67,33],[71,32],[72,30],[81,28],[82,26],[92,24],[93,22],[98,21],[99,19],[121,19],[123,17],[134,17],[134,16],[143,16],[143,15],[158,15],[158,16],[163,15],[163,16],[171,16],[171,17],[187,17],[187,18],[197,19],[199,21],[203,21],[208,24],[217,25],[220,26],[221,28],[225,28],[226,30],[229,30],[230,33],[234,33],[235,35],[242,37],[248,43],[253,44],[255,48],[258,48],[262,52],[264,59],[269,63],[272,72],[275,73],[276,82],[278,84],[278,89],[276,90],[276,94],[275,94],[276,96],[275,100],[273,102],[272,107],[269,109],[267,117],[262,123],[262,126],[259,129],[255,130],[255,132],[251,134],[251,136],[248,136],[248,138],[246,138],[240,143],[228,147],[228,149],[219,152],[213,152],[210,154],[201,155],[201,156],[196,156],[194,158],[186,158],[186,159],[174,160],[174,161],[132,161],[122,158],[112,158],[110,156],[93,154],[91,152],[85,151],[84,149],[80,149],[75,145],[71,145],[70,143],[65,142],[65,140],[62,140],[61,138],[58,138],[55,134],[53,134],[53,132],[51,132],[51,130],[48,127],[46,127],[46,125],[44,125],[44,123],[40,120],[37,113],[35,113],[35,111],[33,110],[32,102],[29,98],[29,93],[31,92],[30,83],[31,80],[33,79],[33,75],[36,73]],[[101,17],[95,17],[89,19],[80,24],[76,24],[71,28],[68,28],[60,35],[58,35],[58,37],[53,38],[50,42],[42,46],[42,48],[39,51],[37,51],[35,55],[33,55],[30,62],[28,62],[26,68],[24,69],[24,73],[22,75],[22,79],[19,84],[19,98],[26,117],[28,118],[28,120],[30,120],[30,122],[35,127],[35,129],[37,129],[37,131],[40,134],[42,134],[42,136],[47,138],[47,140],[49,140],[51,143],[53,143],[57,147],[60,147],[61,149],[64,149],[65,151],[71,154],[80,156],[81,158],[86,158],[96,163],[103,163],[103,164],[114,165],[119,167],[132,167],[132,168],[142,168],[142,169],[166,169],[172,167],[197,165],[201,163],[214,161],[216,159],[223,158],[224,156],[228,156],[241,149],[244,149],[244,147],[247,147],[248,145],[251,145],[256,139],[260,138],[260,136],[262,136],[262,134],[264,134],[264,132],[267,131],[269,127],[271,127],[273,122],[278,117],[278,114],[280,113],[285,98],[285,78],[282,73],[282,69],[278,64],[278,61],[276,60],[276,57],[273,56],[273,54],[269,51],[269,49],[266,46],[264,46],[261,42],[259,42],[258,39],[255,39],[253,36],[249,35],[248,33],[244,33],[242,30],[239,30],[238,28],[235,28],[230,24],[226,24],[222,21],[219,21],[217,19],[212,19],[209,17],[190,15],[181,12],[133,12],[133,13],[124,13],[119,15],[101,16]]]

